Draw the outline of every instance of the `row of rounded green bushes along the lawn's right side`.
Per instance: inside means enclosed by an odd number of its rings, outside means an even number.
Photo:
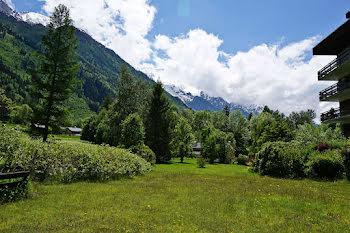
[[[273,177],[326,180],[342,178],[345,171],[350,180],[350,147],[301,150],[293,143],[269,142],[257,153],[254,170]]]

